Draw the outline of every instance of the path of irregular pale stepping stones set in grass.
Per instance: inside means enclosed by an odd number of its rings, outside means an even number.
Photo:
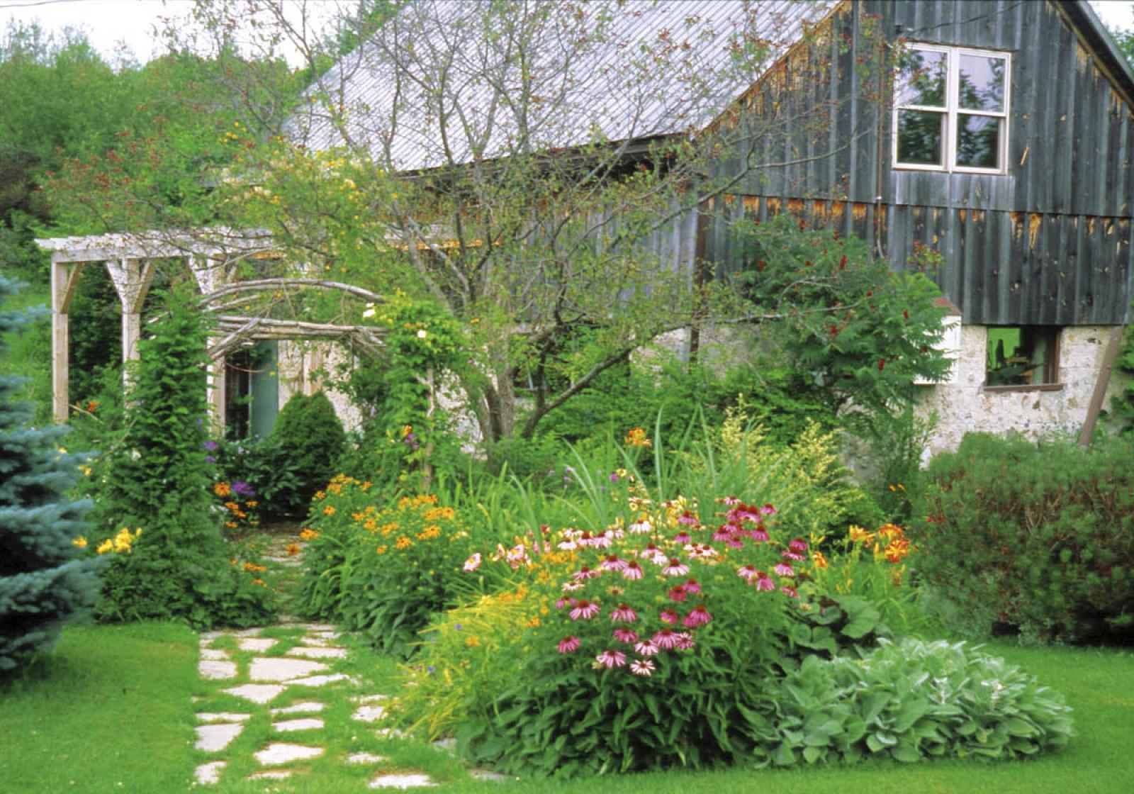
[[[340,634],[329,625],[284,623],[201,634],[197,668],[209,694],[194,699],[202,754],[197,785],[227,783],[232,776],[272,780],[315,774],[314,762],[327,753],[331,719],[349,723],[356,734],[352,738],[365,730],[378,740],[399,738],[393,729],[375,727],[386,716],[387,695],[358,694],[363,684],[336,669],[346,659]],[[248,742],[238,741],[242,734],[264,740],[249,752]],[[361,789],[435,785],[423,772],[391,767],[378,753],[345,751],[337,761],[370,769]]]

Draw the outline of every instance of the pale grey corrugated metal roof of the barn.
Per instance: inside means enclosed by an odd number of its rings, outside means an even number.
[[[835,5],[420,0],[324,75],[291,134],[406,170],[699,129]]]

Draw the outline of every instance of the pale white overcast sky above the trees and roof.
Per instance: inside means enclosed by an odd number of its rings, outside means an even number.
[[[298,16],[306,6],[310,14],[325,18],[344,0],[287,0]],[[355,3],[346,1],[347,8]],[[1134,27],[1134,0],[1092,0],[1098,15],[1110,27]],[[192,0],[0,0],[0,31],[9,20],[40,22],[59,32],[71,26],[86,31],[91,43],[108,59],[115,60],[125,43],[137,60],[146,61],[161,53],[160,39],[153,35],[161,17],[183,17],[193,8]]]

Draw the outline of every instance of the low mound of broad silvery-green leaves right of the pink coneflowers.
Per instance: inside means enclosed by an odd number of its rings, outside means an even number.
[[[888,642],[809,657],[776,692],[777,766],[1009,759],[1060,747],[1070,709],[1034,676],[964,643]]]

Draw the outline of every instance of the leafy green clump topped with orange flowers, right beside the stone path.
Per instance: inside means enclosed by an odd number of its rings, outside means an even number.
[[[406,654],[434,613],[481,584],[463,575],[471,525],[433,495],[391,507],[372,483],[337,475],[315,493],[301,598],[314,616],[362,632],[375,648]]]

